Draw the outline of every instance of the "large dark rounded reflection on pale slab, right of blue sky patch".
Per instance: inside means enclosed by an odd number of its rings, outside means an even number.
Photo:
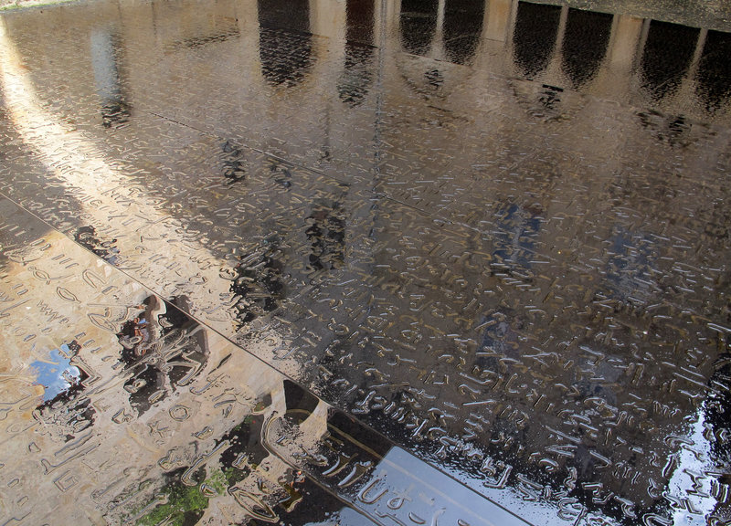
[[[192,382],[207,362],[204,332],[174,307],[181,301],[164,301],[162,312],[155,317],[157,300],[148,297],[143,312],[125,321],[117,334],[123,374],[129,375],[124,389],[140,416],[178,385]]]

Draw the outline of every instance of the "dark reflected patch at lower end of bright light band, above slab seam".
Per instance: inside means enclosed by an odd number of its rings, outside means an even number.
[[[235,308],[239,327],[279,308],[284,297],[281,257],[279,238],[272,236],[259,250],[242,257],[234,268],[230,290],[238,299]]]

